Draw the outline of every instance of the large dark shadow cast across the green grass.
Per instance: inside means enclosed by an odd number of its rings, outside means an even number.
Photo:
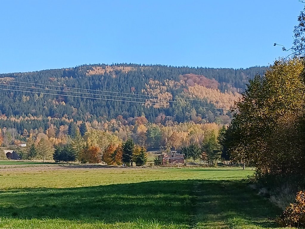
[[[254,219],[280,213],[238,181],[151,181],[77,188],[37,188],[0,193],[0,217],[61,218],[129,222],[138,218],[164,223]]]

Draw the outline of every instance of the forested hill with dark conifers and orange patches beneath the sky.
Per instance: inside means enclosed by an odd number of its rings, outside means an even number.
[[[265,69],[95,64],[1,74],[0,127],[47,129],[50,123],[59,126],[70,120],[103,122],[118,117],[127,120],[139,116],[145,116],[149,122],[180,123],[192,120],[225,124],[230,119],[226,115],[227,110],[214,108],[229,108],[240,97],[239,93],[245,89],[248,79],[257,73],[263,74]]]

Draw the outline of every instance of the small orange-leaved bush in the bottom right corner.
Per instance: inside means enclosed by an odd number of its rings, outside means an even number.
[[[278,219],[282,227],[305,227],[305,193],[296,195],[296,203],[290,204]]]

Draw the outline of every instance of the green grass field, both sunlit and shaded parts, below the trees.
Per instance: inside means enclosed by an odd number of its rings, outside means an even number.
[[[238,168],[0,166],[0,228],[276,227]]]

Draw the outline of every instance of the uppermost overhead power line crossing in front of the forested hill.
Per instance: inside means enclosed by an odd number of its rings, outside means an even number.
[[[96,92],[106,92],[106,93],[115,93],[115,94],[125,94],[125,95],[133,95],[133,96],[146,96],[146,97],[155,97],[158,98],[158,96],[153,96],[153,95],[144,95],[144,94],[136,94],[136,93],[126,93],[126,92],[113,92],[113,91],[105,91],[105,90],[95,90],[95,89],[86,89],[86,88],[76,88],[76,87],[67,87],[67,86],[57,86],[57,85],[48,85],[48,84],[40,84],[40,83],[30,83],[30,82],[22,82],[22,81],[14,81],[14,80],[4,80],[1,79],[1,81],[5,82],[15,82],[15,83],[23,83],[23,84],[31,84],[31,85],[40,85],[40,86],[47,86],[47,87],[60,87],[60,88],[68,88],[68,89],[77,89],[77,90],[87,90],[87,91],[96,91]],[[106,96],[106,95],[104,95]],[[108,95],[110,96],[110,95]],[[172,99],[177,99],[177,100],[189,100],[189,101],[203,101],[199,99],[187,99],[187,98],[176,98],[173,97]],[[171,101],[172,102],[172,101]],[[222,101],[210,101],[213,103],[226,103],[226,104],[234,104],[231,102],[222,102]]]

